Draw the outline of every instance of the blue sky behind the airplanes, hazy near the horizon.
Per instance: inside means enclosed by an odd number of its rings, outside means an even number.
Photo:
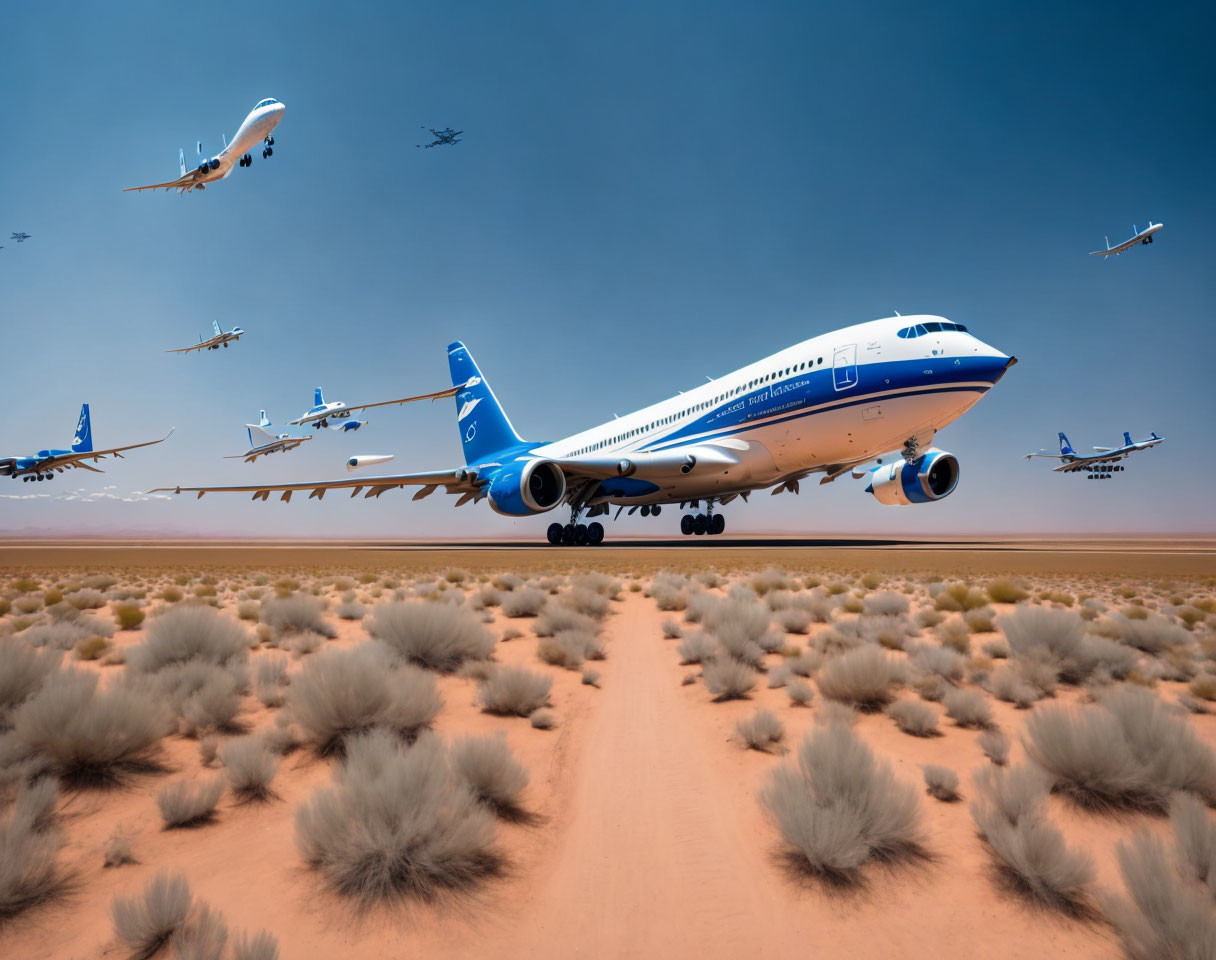
[[[463,339],[547,439],[806,337],[901,313],[1019,365],[939,434],[947,500],[848,481],[728,507],[732,532],[1211,532],[1214,17],[1198,4],[22,4],[0,33],[0,451],[162,447],[0,487],[0,530],[540,534],[434,496],[143,500],[316,479],[353,453],[460,462],[449,402],[255,465],[265,408],[446,386]],[[123,193],[261,97],[275,156],[206,195]],[[465,129],[423,151],[420,124]],[[1086,256],[1165,221],[1159,242]],[[162,353],[212,318],[248,337]],[[1169,437],[1107,483],[1021,454]],[[54,493],[51,493],[54,488]],[[74,493],[80,490],[81,493]],[[72,499],[68,499],[72,498]],[[675,533],[677,513],[617,524]],[[609,532],[609,535],[612,532]]]

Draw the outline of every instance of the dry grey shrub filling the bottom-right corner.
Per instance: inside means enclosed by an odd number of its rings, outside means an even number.
[[[1216,914],[1201,887],[1171,863],[1165,843],[1141,830],[1115,848],[1126,897],[1103,897],[1130,960],[1216,956]]]

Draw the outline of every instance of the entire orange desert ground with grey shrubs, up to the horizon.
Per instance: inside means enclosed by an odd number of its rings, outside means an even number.
[[[0,549],[5,958],[1207,958],[1214,805],[1209,540]]]

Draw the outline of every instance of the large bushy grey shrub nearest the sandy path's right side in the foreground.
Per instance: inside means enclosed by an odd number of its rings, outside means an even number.
[[[849,883],[867,861],[923,855],[916,791],[845,724],[816,728],[796,763],[772,773],[760,799],[799,871]]]

